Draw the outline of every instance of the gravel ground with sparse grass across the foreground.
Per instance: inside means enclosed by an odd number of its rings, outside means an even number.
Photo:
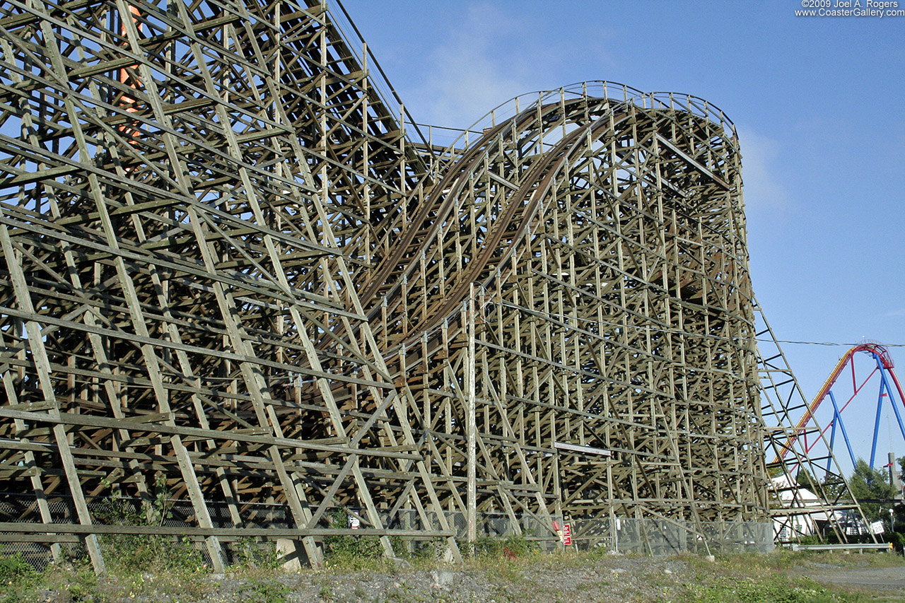
[[[738,600],[738,593],[760,589],[751,600],[772,601],[764,590],[773,578],[786,584],[803,584],[806,577],[823,583],[825,589],[848,593],[845,601],[905,601],[905,565],[900,558],[807,557],[776,564],[768,556],[718,559],[700,557],[603,556],[576,558],[567,554],[534,557],[529,560],[489,560],[483,566],[471,563],[443,566],[448,569],[418,570],[402,562],[395,571],[302,570],[299,573],[245,570],[235,575],[195,575],[186,579],[167,576],[139,576],[131,581],[100,579],[90,592],[73,591],[70,582],[57,588],[44,586],[33,600],[62,603],[86,601],[254,601],[255,603],[563,603],[573,601],[625,601],[649,603],[688,600]],[[772,558],[776,559],[776,558]],[[783,558],[779,558],[780,560]],[[820,563],[818,560],[833,561]],[[837,562],[838,561],[838,562]],[[878,567],[894,566],[894,567]],[[782,570],[771,569],[782,567]],[[812,582],[813,584],[813,582]],[[776,595],[789,592],[776,591]],[[804,598],[816,596],[811,587]],[[0,587],[2,590],[2,587]],[[77,589],[78,590],[78,589]],[[68,591],[68,592],[67,592]],[[87,596],[86,596],[87,595]],[[744,598],[743,600],[748,600]],[[829,600],[829,599],[821,599]]]

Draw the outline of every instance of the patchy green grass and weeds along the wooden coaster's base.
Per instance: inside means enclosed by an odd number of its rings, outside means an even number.
[[[505,544],[503,544],[505,543]],[[53,564],[44,572],[38,572],[21,555],[0,557],[0,603],[33,600],[36,590],[45,590],[48,598],[58,601],[120,601],[131,598],[170,598],[191,601],[214,595],[218,579],[214,579],[205,567],[200,554],[183,550],[185,542],[151,542],[146,549],[129,551],[119,544],[107,543],[107,559],[110,573],[98,578],[87,560],[67,560]],[[238,562],[231,566],[229,579],[234,586],[234,600],[283,603],[291,593],[287,583],[301,580],[319,587],[317,598],[322,601],[340,601],[348,598],[343,592],[337,575],[348,572],[373,572],[393,575],[398,582],[383,594],[383,600],[414,600],[424,593],[409,586],[405,571],[392,560],[376,554],[369,545],[356,541],[338,541],[328,560],[327,571],[302,570],[297,578],[281,578],[283,575],[275,551],[260,543],[245,543],[245,553],[237,554]],[[117,547],[123,547],[117,549]],[[244,545],[240,545],[240,549]],[[344,548],[345,547],[345,548]],[[401,550],[402,548],[400,548]],[[427,553],[424,553],[427,550]],[[449,568],[439,560],[436,548],[424,547],[421,555],[409,557],[413,570]],[[114,559],[114,552],[119,559]],[[362,559],[355,559],[356,552],[365,552]],[[518,552],[518,554],[515,554]],[[161,556],[166,559],[161,559]],[[630,568],[624,570],[625,567]],[[666,571],[667,567],[676,570]],[[624,585],[632,578],[643,585],[637,590],[638,601],[690,601],[691,603],[861,603],[866,601],[901,600],[883,598],[869,589],[845,588],[818,584],[800,574],[814,568],[827,567],[895,567],[905,569],[905,560],[891,553],[865,553],[846,555],[840,552],[777,550],[770,554],[718,555],[709,561],[696,555],[680,555],[672,558],[612,557],[599,552],[577,553],[575,550],[559,550],[542,553],[529,541],[512,539],[492,544],[482,543],[475,555],[466,558],[462,565],[452,567],[481,575],[490,582],[489,588],[498,593],[498,601],[528,603],[534,600],[556,600],[563,597],[599,599],[612,589]],[[633,568],[633,569],[632,569]],[[542,579],[551,572],[578,570],[585,576],[569,592],[558,592],[555,585]],[[623,571],[636,572],[619,573]],[[678,575],[676,575],[678,574]],[[296,581],[296,584],[299,582]],[[656,592],[656,597],[651,596]],[[358,587],[353,595],[363,600],[371,593]],[[223,596],[220,594],[219,596]],[[425,599],[433,600],[433,599]],[[565,600],[565,599],[564,599]]]

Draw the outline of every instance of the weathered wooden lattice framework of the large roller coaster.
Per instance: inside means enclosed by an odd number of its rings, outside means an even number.
[[[90,501],[161,480],[193,525],[129,530],[215,565],[317,562],[335,506],[387,554],[456,551],[440,511],[764,520],[719,110],[588,83],[441,149],[315,0],[0,6],[0,490],[34,494],[0,531],[103,570]]]

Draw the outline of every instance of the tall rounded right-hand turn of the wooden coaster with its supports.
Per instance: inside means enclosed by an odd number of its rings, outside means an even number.
[[[719,111],[625,90],[542,94],[448,153],[362,301],[397,382],[459,432],[445,472],[468,465],[474,321],[482,479],[553,485],[538,512],[748,520],[766,500],[737,143]]]

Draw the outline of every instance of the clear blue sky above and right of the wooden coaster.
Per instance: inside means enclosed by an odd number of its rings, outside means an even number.
[[[905,16],[795,16],[800,0],[344,5],[420,122],[463,128],[589,80],[716,104],[738,127],[752,280],[776,336],[905,344]],[[847,348],[784,349],[810,398]],[[846,419],[866,456],[864,423]]]

